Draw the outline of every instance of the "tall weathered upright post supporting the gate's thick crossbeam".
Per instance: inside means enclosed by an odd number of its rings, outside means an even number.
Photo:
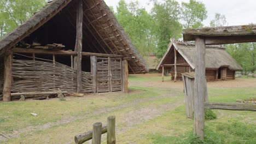
[[[194,134],[204,139],[205,127],[205,39],[197,37],[196,44],[196,67],[195,67],[195,91],[194,91]]]

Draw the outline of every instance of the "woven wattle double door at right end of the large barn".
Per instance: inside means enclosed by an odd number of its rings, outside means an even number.
[[[120,92],[123,87],[121,58],[97,57],[97,93]]]

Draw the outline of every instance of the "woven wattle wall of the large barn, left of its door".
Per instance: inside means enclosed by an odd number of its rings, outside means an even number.
[[[13,77],[11,92],[77,92],[77,71],[57,62],[13,59]],[[82,84],[83,93],[94,92],[91,73],[82,73]]]

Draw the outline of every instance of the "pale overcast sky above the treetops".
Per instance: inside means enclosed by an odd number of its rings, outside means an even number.
[[[125,0],[126,2],[135,0]],[[178,2],[189,2],[189,0],[176,0]],[[207,19],[203,21],[205,26],[210,25],[210,21],[214,19],[215,13],[226,16],[229,26],[248,25],[256,23],[256,1],[255,0],[200,0],[206,5],[208,11]],[[119,0],[105,0],[107,5],[117,6]],[[152,5],[148,5],[149,0],[138,0],[142,7],[148,11]]]

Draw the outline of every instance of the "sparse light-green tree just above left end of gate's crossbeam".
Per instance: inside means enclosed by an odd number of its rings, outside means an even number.
[[[184,28],[202,27],[202,21],[207,18],[205,4],[190,0],[189,3],[182,2],[182,20]]]

